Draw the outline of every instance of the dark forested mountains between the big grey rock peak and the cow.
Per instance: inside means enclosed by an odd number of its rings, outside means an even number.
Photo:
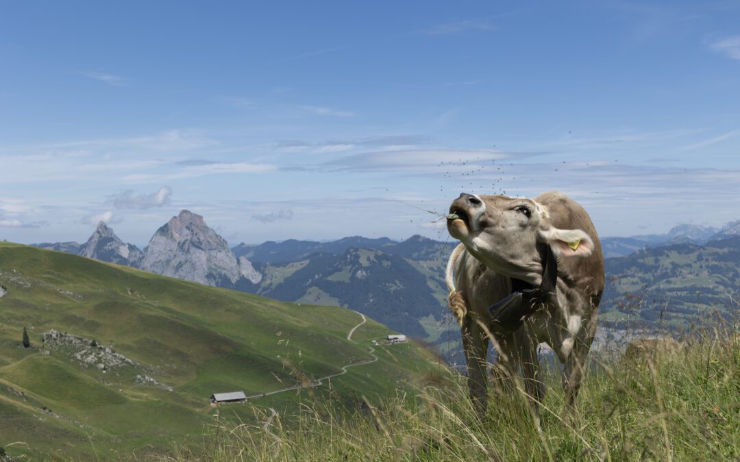
[[[240,245],[235,252],[252,259],[263,274],[260,295],[351,308],[434,343],[448,337],[443,336],[448,314],[444,268],[453,248],[453,243],[420,236],[403,242],[348,237]],[[452,336],[459,337],[456,332]]]

